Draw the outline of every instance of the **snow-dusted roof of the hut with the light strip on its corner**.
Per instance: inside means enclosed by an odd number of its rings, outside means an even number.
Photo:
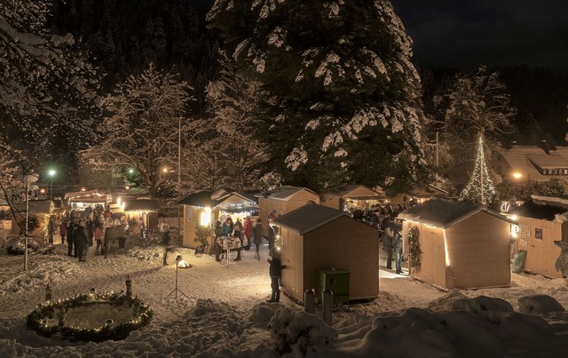
[[[461,220],[468,219],[479,211],[485,211],[499,219],[517,224],[514,220],[508,219],[497,211],[488,209],[480,203],[457,200],[434,196],[429,201],[415,205],[398,214],[398,219],[420,222],[434,227],[448,228],[459,223]]]

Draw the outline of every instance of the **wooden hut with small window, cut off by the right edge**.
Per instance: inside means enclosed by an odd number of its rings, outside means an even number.
[[[568,238],[568,200],[533,195],[511,210],[517,218],[516,250],[525,250],[525,270],[547,277],[562,277],[556,271],[560,248],[555,241]]]

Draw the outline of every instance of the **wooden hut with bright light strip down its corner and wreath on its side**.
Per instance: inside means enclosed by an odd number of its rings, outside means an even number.
[[[432,197],[398,214],[403,219],[404,255],[409,274],[440,287],[509,286],[511,227],[517,223],[485,205]],[[416,227],[416,229],[414,229]],[[417,230],[414,247],[410,230]],[[412,251],[420,249],[422,267],[413,267]]]

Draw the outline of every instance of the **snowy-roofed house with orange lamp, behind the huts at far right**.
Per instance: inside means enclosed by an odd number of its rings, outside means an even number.
[[[509,182],[568,179],[568,147],[549,148],[546,142],[540,147],[513,146],[494,154],[492,166]]]

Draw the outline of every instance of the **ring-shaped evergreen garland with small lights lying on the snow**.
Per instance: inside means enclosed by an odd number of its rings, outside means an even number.
[[[113,306],[128,304],[130,308],[134,309],[137,316],[132,318],[130,322],[117,325],[113,325],[112,320],[109,320],[110,322],[107,322],[105,326],[94,329],[78,329],[65,325],[52,326],[47,324],[47,318],[59,317],[61,310],[91,304]],[[29,330],[34,330],[40,336],[47,338],[59,333],[62,338],[70,341],[103,342],[109,339],[120,340],[127,338],[130,331],[146,326],[151,319],[152,309],[138,298],[131,298],[122,292],[91,292],[90,294],[77,295],[74,298],[59,299],[57,301],[48,300],[45,304],[38,305],[31,314],[28,314],[26,326]]]

